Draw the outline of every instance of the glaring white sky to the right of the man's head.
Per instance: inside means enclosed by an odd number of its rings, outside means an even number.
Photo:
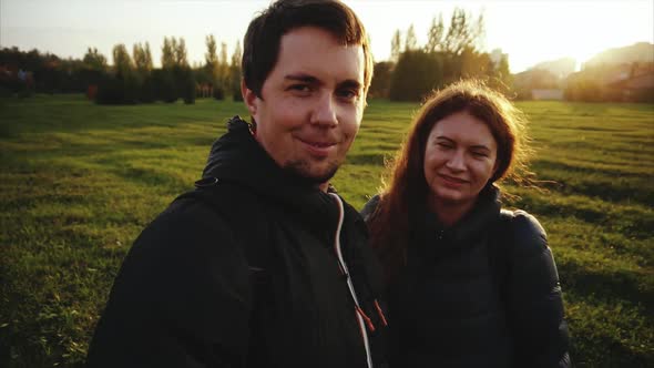
[[[654,2],[646,1],[348,1],[371,34],[376,60],[390,54],[396,29],[413,24],[419,44],[431,19],[454,7],[483,13],[486,51],[502,49],[512,72],[543,61],[573,58],[578,69],[595,54],[636,42],[654,43]]]

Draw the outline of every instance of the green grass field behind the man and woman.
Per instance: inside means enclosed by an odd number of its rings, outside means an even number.
[[[529,102],[541,190],[510,203],[549,233],[576,367],[654,367],[654,105]],[[335,178],[360,207],[417,104],[370,101]],[[0,366],[82,366],[140,231],[201,175],[241,103],[0,100]]]

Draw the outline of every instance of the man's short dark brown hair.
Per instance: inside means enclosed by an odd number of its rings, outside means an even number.
[[[372,79],[372,54],[366,30],[355,12],[337,0],[279,0],[252,20],[243,40],[242,70],[245,85],[259,99],[279,55],[282,37],[300,27],[316,27],[345,45],[364,48],[364,90]]]

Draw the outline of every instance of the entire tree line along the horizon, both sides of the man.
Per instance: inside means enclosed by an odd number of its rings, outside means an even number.
[[[524,100],[540,89],[561,90],[569,101],[654,101],[654,89],[627,91],[631,94],[625,98],[620,84],[602,84],[615,73],[614,65],[585,68],[565,79],[544,69],[511,74],[505,53],[482,51],[484,33],[483,14],[473,17],[461,8],[454,9],[448,24],[442,13],[432,18],[426,44],[418,44],[412,24],[406,32],[396,30],[390,59],[375,63],[369,95],[420,101],[433,89],[476,78]],[[231,58],[226,43],[218,44],[213,34],[206,35],[205,44],[204,63],[192,67],[184,39],[164,38],[161,68],[154,68],[147,42],[134,44],[131,52],[124,44],[114,45],[111,65],[95,48],[89,48],[81,60],[4,48],[0,50],[0,95],[83,92],[109,104],[180,99],[194,103],[197,96],[222,100],[229,95],[241,100],[241,44],[236,43]],[[654,63],[634,64],[630,75],[652,72]]]

